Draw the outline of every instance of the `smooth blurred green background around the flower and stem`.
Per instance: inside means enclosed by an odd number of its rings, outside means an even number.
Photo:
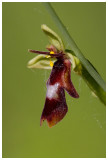
[[[106,79],[106,3],[51,3],[82,53]],[[45,51],[41,24],[59,35],[42,3],[3,2],[3,158],[103,158],[106,156],[105,106],[72,73],[80,98],[66,93],[68,113],[52,128],[40,116],[44,107],[48,70],[28,69],[35,55]],[[65,41],[64,41],[65,42]],[[69,48],[65,42],[66,48]]]

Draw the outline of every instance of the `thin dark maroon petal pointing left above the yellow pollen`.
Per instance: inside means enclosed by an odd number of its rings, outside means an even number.
[[[28,52],[43,54],[43,55],[50,55],[51,57],[63,57],[65,55],[63,52],[50,54],[50,52],[37,51],[32,49],[29,49]]]

